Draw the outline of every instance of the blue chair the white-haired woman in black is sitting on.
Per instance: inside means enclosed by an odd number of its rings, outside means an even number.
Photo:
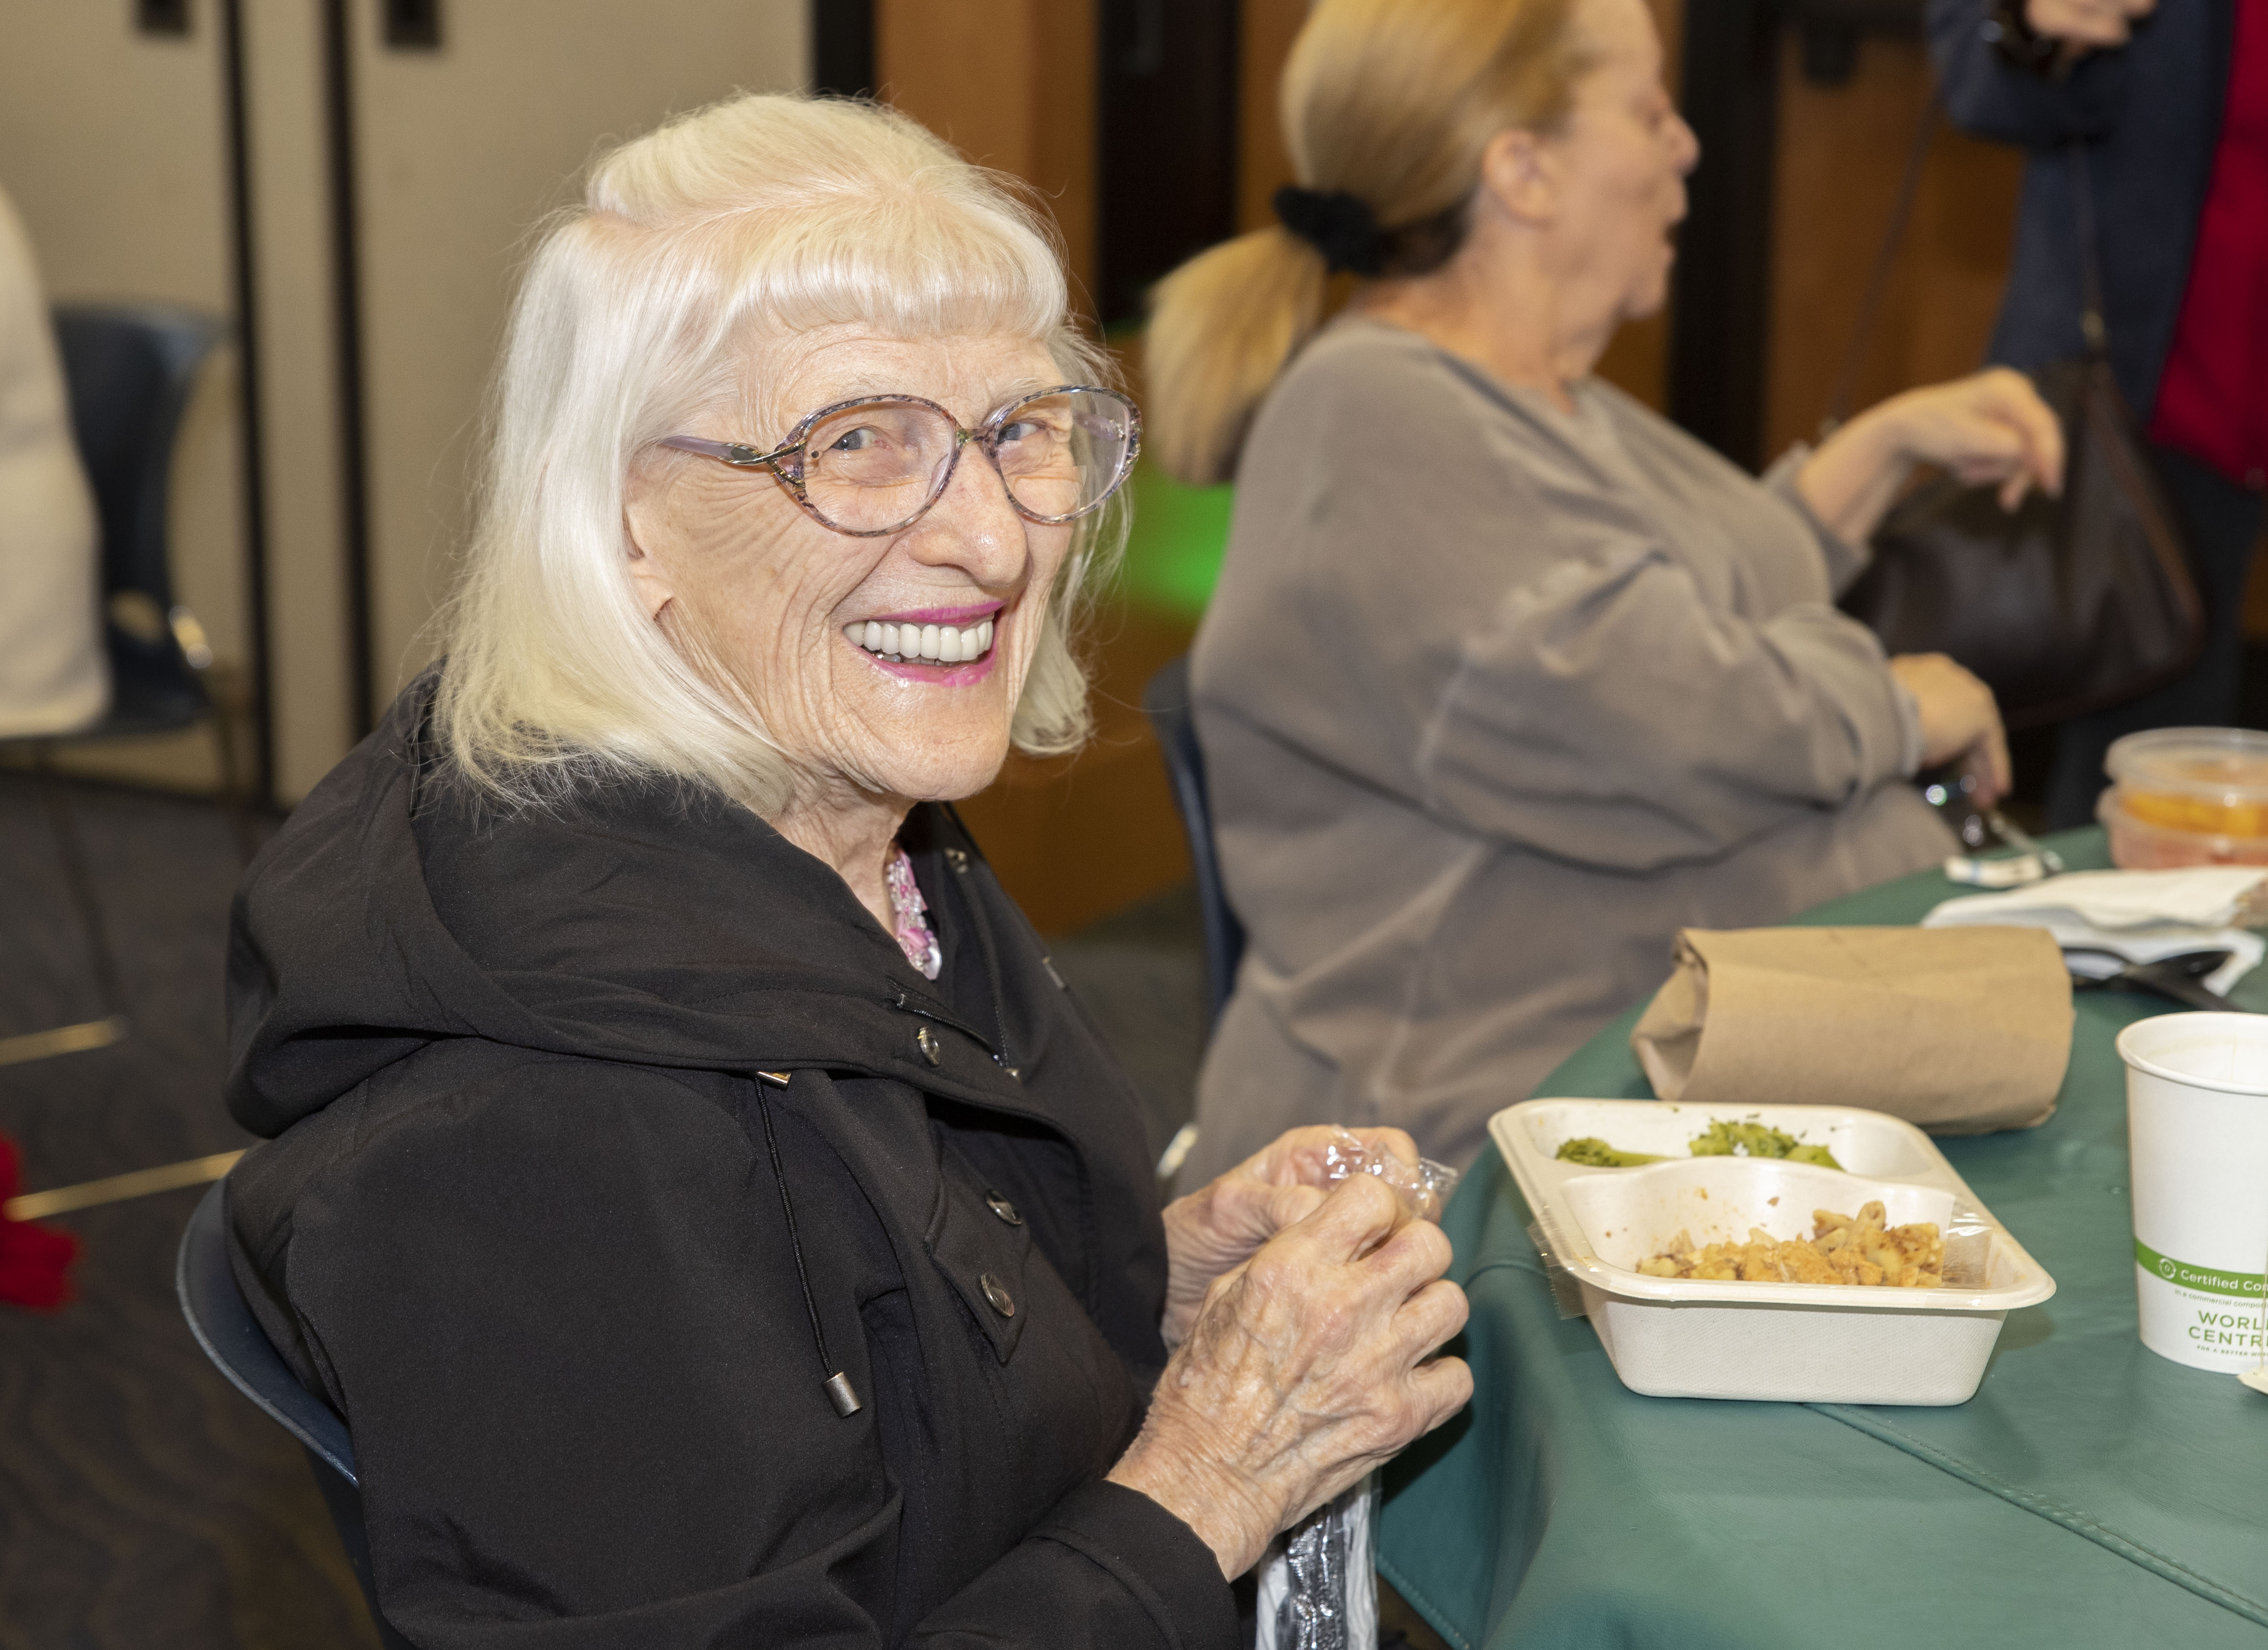
[[[363,1534],[363,1491],[354,1475],[354,1441],[347,1423],[329,1403],[299,1385],[299,1378],[284,1362],[268,1330],[252,1317],[243,1290],[236,1287],[236,1271],[229,1267],[227,1231],[227,1181],[197,1199],[197,1213],[188,1217],[181,1233],[181,1256],[172,1269],[172,1287],[181,1299],[181,1317],[197,1346],[213,1360],[213,1367],[229,1378],[238,1392],[268,1412],[277,1426],[290,1432],[306,1448],[308,1466],[315,1469],[315,1485],[324,1505],[331,1507],[331,1523],[347,1548],[347,1564],[354,1580],[363,1584],[363,1602],[379,1627],[379,1643],[386,1650],[415,1650],[379,1614],[379,1593],[370,1580],[370,1539]]]

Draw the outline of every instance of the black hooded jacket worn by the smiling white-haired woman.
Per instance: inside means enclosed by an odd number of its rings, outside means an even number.
[[[1134,1097],[953,814],[905,836],[932,984],[739,807],[479,816],[429,705],[229,956],[238,1276],[347,1417],[395,1627],[1229,1645],[1211,1550],[1102,1482],[1163,1362]]]

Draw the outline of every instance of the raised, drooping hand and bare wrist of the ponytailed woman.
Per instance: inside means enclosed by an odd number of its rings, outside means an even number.
[[[1969,485],[1998,480],[2000,508],[2014,510],[2032,487],[2064,492],[2064,426],[2030,379],[1994,367],[1860,412],[1812,453],[1796,490],[1833,533],[1862,544],[1914,465]]]

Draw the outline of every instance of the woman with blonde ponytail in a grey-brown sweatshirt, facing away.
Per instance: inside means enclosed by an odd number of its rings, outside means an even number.
[[[1762,483],[1590,376],[1662,304],[1696,161],[1642,0],[1320,0],[1284,125],[1284,227],[1150,329],[1168,467],[1238,485],[1193,682],[1250,950],[1200,1181],[1293,1120],[1467,1158],[1678,927],[1944,857],[1907,780],[2005,784],[1991,694],[1833,594],[1916,462],[2062,483],[2007,372]]]

